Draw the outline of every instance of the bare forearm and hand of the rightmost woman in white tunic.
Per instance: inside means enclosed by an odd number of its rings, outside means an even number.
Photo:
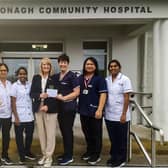
[[[120,117],[120,122],[125,123],[126,122],[126,114],[128,110],[128,105],[129,105],[129,93],[124,93],[124,105],[123,105],[123,112]]]

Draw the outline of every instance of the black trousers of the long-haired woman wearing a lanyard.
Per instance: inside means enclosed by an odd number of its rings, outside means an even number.
[[[80,115],[87,152],[99,157],[102,149],[102,119]]]

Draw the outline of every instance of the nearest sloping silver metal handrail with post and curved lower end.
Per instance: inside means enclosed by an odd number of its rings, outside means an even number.
[[[140,149],[142,150],[145,158],[147,159],[149,165],[151,167],[155,167],[156,166],[156,146],[155,146],[155,131],[158,131],[160,134],[160,142],[161,144],[164,144],[164,132],[161,128],[155,126],[152,121],[148,118],[148,116],[145,114],[144,110],[142,109],[142,107],[137,103],[136,100],[130,100],[130,103],[133,104],[138,111],[140,112],[140,114],[142,115],[142,117],[146,120],[147,124],[149,125],[149,127],[151,128],[151,158],[149,157],[148,153],[146,152],[145,148],[143,147],[143,144],[141,143],[140,139],[138,138],[138,136],[133,133],[130,132],[130,134],[135,138],[137,144],[139,145]]]

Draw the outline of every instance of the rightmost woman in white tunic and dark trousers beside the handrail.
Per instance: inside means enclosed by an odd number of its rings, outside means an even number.
[[[127,155],[127,134],[130,121],[129,93],[130,79],[122,74],[118,60],[109,62],[110,76],[106,78],[108,98],[105,106],[105,122],[111,141],[110,159],[107,164],[123,166]]]

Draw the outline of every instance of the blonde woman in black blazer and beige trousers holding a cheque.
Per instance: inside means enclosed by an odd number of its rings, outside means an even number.
[[[43,58],[40,62],[40,73],[34,75],[30,96],[35,112],[42,157],[39,165],[51,167],[52,155],[55,149],[56,136],[56,89],[50,75],[52,64],[49,58]]]

